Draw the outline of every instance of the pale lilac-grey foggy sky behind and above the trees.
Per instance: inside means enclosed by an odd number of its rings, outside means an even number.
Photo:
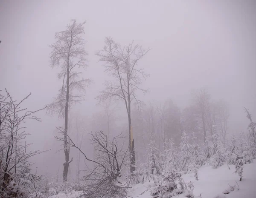
[[[48,46],[55,42],[55,32],[66,29],[72,19],[87,21],[84,39],[89,62],[83,77],[93,83],[86,88],[86,100],[71,111],[72,115],[79,112],[88,126],[91,116],[102,109],[95,98],[109,79],[95,56],[107,36],[122,45],[134,40],[151,48],[139,63],[150,74],[142,84],[150,92],[138,94],[145,103],[170,98],[184,109],[193,90],[207,88],[213,99],[223,98],[230,105],[229,134],[247,130],[244,107],[256,118],[255,1],[2,0],[0,89],[6,88],[17,100],[32,92],[23,104],[28,109],[51,103],[62,82],[57,78],[59,70],[49,66]],[[116,114],[121,117],[117,125],[126,124],[122,101]],[[56,153],[61,143],[54,135],[64,120],[46,111],[37,115],[42,122],[27,122],[26,131],[31,133],[27,142],[33,143],[31,149],[51,150],[33,158],[33,166],[41,173],[47,166],[54,175],[63,169],[64,154]]]

